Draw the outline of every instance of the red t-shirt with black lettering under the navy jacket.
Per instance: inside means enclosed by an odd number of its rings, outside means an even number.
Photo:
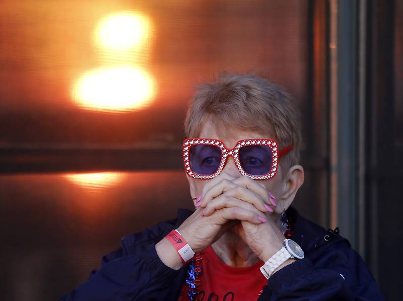
[[[260,272],[264,264],[261,260],[248,267],[234,268],[226,265],[216,255],[213,248],[208,247],[201,260],[200,286],[197,300],[206,301],[246,301],[257,300],[260,290],[267,279]],[[180,301],[189,300],[188,286],[183,284]]]

